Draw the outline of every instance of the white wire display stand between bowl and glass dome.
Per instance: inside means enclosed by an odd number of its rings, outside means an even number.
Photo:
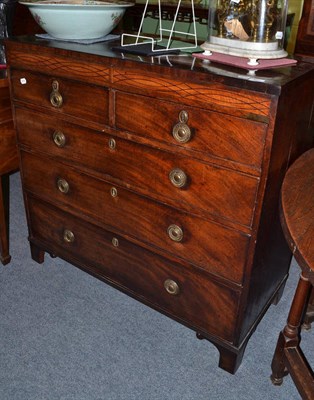
[[[144,43],[150,43],[151,44],[151,52],[152,53],[157,53],[158,52],[165,52],[165,51],[173,51],[173,50],[182,50],[182,49],[195,49],[197,47],[197,33],[196,33],[196,23],[195,23],[195,11],[194,11],[194,0],[191,0],[191,14],[192,14],[192,29],[191,29],[191,33],[190,32],[183,32],[180,30],[176,30],[176,24],[177,24],[177,20],[178,20],[178,15],[180,13],[180,7],[181,7],[181,2],[182,0],[178,0],[178,4],[177,7],[175,9],[175,14],[174,14],[174,18],[172,21],[172,25],[171,28],[164,28],[164,21],[162,19],[162,4],[161,1],[162,0],[158,0],[158,13],[159,13],[159,38],[153,38],[151,36],[146,36],[142,34],[142,29],[143,29],[143,23],[144,23],[144,19],[146,16],[146,11],[147,11],[147,7],[149,5],[149,2],[151,0],[146,0],[145,3],[145,7],[144,7],[144,11],[143,11],[143,15],[142,15],[142,19],[141,19],[141,23],[138,29],[137,34],[130,34],[130,33],[123,33],[121,35],[121,47],[125,47],[125,46],[140,46],[141,44]],[[168,35],[165,37],[165,33],[168,33]],[[175,39],[175,35],[184,35],[184,36],[189,36],[192,38],[192,40],[194,40],[194,42],[181,42],[182,46],[180,45],[179,47],[171,47],[172,41]],[[125,39],[126,38],[133,38],[133,42],[132,43],[125,43]],[[162,46],[160,46],[159,44],[163,43]],[[166,43],[166,44],[164,44]]]

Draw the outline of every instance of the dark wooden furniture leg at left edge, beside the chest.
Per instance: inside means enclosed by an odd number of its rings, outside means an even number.
[[[3,265],[11,260],[9,254],[9,175],[0,176],[0,261]]]

